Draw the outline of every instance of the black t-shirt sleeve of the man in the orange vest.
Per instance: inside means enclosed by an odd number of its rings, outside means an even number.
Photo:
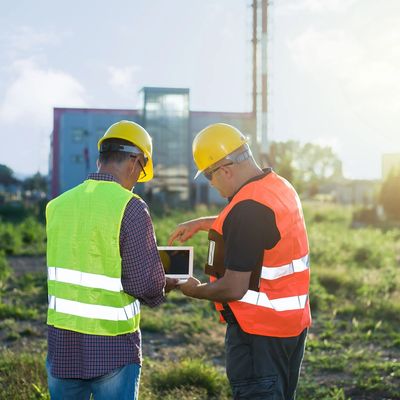
[[[225,267],[234,271],[252,271],[260,265],[264,250],[281,239],[271,208],[254,200],[237,203],[222,227]]]

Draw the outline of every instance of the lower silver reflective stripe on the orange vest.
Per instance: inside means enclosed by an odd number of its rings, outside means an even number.
[[[271,308],[275,311],[301,310],[306,306],[307,294],[301,296],[282,297],[270,300],[263,292],[248,290],[239,300],[243,303],[254,304],[256,306]]]

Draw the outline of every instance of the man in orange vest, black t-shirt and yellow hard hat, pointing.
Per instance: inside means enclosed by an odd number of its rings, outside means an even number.
[[[213,124],[193,141],[193,158],[228,205],[187,221],[169,243],[208,231],[205,272],[186,296],[215,302],[227,322],[226,370],[234,399],[295,398],[307,329],[309,249],[299,197],[284,178],[254,161],[245,136]]]

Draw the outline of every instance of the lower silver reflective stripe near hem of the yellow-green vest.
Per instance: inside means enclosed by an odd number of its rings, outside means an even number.
[[[64,314],[78,317],[107,319],[109,321],[127,321],[140,313],[140,302],[135,300],[125,307],[99,306],[95,304],[80,303],[66,299],[49,296],[49,308]]]

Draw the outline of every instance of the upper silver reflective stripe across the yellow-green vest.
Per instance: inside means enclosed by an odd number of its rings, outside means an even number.
[[[111,290],[112,292],[122,291],[120,278],[110,278],[74,269],[47,267],[47,277],[50,281],[73,283],[80,286]]]

